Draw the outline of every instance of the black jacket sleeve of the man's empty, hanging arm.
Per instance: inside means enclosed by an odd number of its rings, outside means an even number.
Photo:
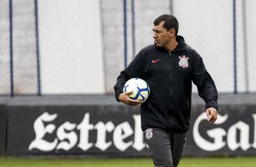
[[[198,89],[199,96],[205,102],[205,108],[213,107],[218,110],[218,91],[212,76],[207,72],[202,61],[202,57],[194,50],[192,81]]]

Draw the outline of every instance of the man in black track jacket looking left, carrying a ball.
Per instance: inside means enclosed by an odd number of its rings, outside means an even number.
[[[217,120],[218,93],[202,57],[178,34],[173,15],[161,15],[153,22],[154,44],[144,47],[124,69],[114,85],[118,102],[138,105],[132,92],[123,93],[123,84],[134,77],[151,88],[141,105],[142,130],[152,152],[155,167],[176,167],[182,156],[185,134],[190,127],[192,82],[206,103],[209,123]]]

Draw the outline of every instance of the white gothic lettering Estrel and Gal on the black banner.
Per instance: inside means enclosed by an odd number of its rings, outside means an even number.
[[[228,119],[228,114],[220,115],[215,122],[216,125],[225,123]],[[57,114],[43,113],[34,121],[34,141],[30,143],[28,150],[38,149],[43,152],[50,152],[54,149],[69,151],[77,147],[84,152],[95,146],[101,151],[106,151],[112,145],[116,149],[124,152],[129,147],[133,147],[140,152],[145,148],[146,144],[143,142],[143,132],[141,130],[141,116],[140,114],[133,115],[134,129],[129,122],[114,125],[113,122],[107,123],[98,122],[90,123],[90,113],[84,114],[82,123],[61,124],[57,129],[53,122],[57,118]],[[247,151],[250,147],[256,149],[256,114],[252,114],[254,121],[254,136],[253,142],[250,143],[250,125],[244,122],[237,122],[231,125],[226,130],[220,127],[215,127],[211,130],[206,130],[207,138],[204,138],[200,129],[202,122],[207,121],[205,113],[199,115],[195,120],[192,129],[192,136],[194,142],[204,151],[214,152],[222,149],[225,145],[231,150],[235,151],[241,148],[242,151]],[[79,133],[75,133],[75,128]],[[54,134],[55,132],[55,134]],[[96,137],[90,137],[90,134]],[[96,133],[96,134],[95,134]],[[47,134],[51,134],[51,138],[46,138]],[[112,137],[111,137],[112,135]],[[134,136],[133,136],[134,135]],[[48,136],[48,135],[47,135]],[[224,138],[226,136],[226,138]],[[207,139],[211,138],[210,141]],[[47,139],[47,140],[45,140]],[[226,140],[225,140],[226,139]],[[79,143],[77,143],[79,140]]]

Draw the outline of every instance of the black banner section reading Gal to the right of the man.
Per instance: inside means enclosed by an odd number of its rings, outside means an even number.
[[[256,105],[221,105],[216,123],[206,120],[204,106],[192,109],[184,154],[256,155]]]

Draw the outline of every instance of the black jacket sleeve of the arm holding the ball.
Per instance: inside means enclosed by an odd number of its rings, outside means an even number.
[[[141,65],[142,65],[143,51],[137,54],[131,64],[129,64],[117,77],[117,81],[113,86],[115,93],[115,99],[117,102],[120,102],[118,97],[123,93],[123,85],[131,78],[141,76]]]

